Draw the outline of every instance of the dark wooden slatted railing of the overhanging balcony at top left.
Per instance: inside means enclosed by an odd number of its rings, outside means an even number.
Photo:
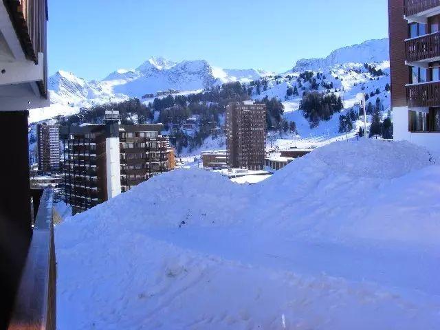
[[[43,80],[39,88],[47,96],[47,1],[46,0],[3,0],[8,5],[14,28],[23,50],[31,61],[39,64],[43,54]]]

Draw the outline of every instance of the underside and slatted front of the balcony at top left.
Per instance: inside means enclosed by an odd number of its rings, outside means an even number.
[[[1,1],[2,111],[35,109],[50,105],[47,93],[46,3],[46,0]],[[17,94],[10,89],[16,90]],[[14,97],[11,98],[9,95]]]

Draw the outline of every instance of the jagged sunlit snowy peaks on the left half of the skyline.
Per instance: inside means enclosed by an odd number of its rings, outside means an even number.
[[[96,102],[142,98],[145,94],[167,89],[193,91],[233,81],[249,83],[270,74],[258,69],[213,68],[204,60],[176,63],[152,57],[136,69],[118,69],[101,81],[87,81],[70,72],[59,71],[49,78],[49,89],[54,104],[87,106]]]

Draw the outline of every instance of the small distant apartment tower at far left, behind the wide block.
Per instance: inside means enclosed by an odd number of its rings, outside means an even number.
[[[56,173],[60,170],[60,126],[36,125],[39,170]]]

